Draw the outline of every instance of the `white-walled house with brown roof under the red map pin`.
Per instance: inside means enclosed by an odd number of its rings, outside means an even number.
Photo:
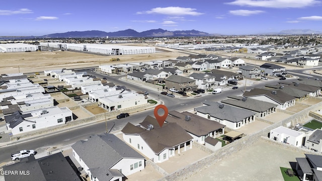
[[[122,129],[123,140],[154,163],[161,163],[192,148],[193,137],[177,123],[159,126],[155,118],[147,116],[139,126],[127,123]]]

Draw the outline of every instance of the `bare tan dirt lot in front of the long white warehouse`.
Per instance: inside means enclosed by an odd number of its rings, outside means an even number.
[[[141,45],[143,46],[143,45]],[[104,56],[70,51],[37,51],[37,52],[6,52],[0,53],[0,72],[2,73],[29,73],[42,72],[59,68],[82,68],[99,66],[100,64],[120,64],[125,62],[145,62],[152,60],[175,59],[186,54],[177,50],[157,49],[153,54]],[[111,58],[120,58],[120,61],[111,62]]]

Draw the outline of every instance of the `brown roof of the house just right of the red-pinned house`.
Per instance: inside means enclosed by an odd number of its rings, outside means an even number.
[[[190,116],[189,121],[185,120],[186,116]],[[222,125],[216,121],[211,121],[189,112],[179,113],[177,111],[171,111],[169,112],[169,116],[167,117],[166,121],[169,123],[177,123],[187,132],[198,137],[206,136],[210,132],[214,132],[225,127],[225,125]]]

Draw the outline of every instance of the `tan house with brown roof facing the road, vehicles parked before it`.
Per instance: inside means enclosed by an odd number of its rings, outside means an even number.
[[[165,81],[167,88],[176,88],[183,92],[195,91],[198,88],[196,80],[180,75],[170,75]]]

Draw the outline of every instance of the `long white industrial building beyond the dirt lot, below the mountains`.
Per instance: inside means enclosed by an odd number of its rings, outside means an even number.
[[[61,50],[76,50],[82,52],[100,53],[107,55],[131,55],[143,53],[155,53],[154,47],[125,46],[116,44],[73,44],[57,42],[41,42],[42,48]]]

